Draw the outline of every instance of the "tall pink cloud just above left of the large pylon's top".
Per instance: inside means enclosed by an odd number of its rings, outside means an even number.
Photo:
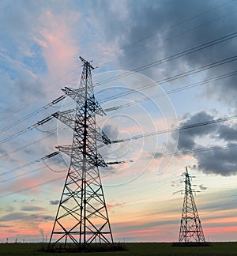
[[[50,81],[65,77],[63,84],[69,82],[70,71],[75,70],[79,61],[79,45],[76,43],[74,25],[81,17],[80,13],[67,10],[67,12],[55,14],[51,11],[43,13],[40,18],[41,26],[36,32],[34,40],[43,49],[43,57],[47,64]],[[75,75],[73,76],[75,78]],[[78,77],[76,75],[76,77]],[[57,88],[58,84],[56,85]]]

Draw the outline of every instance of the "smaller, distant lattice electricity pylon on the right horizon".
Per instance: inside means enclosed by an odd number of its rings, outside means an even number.
[[[205,242],[187,168],[184,176],[185,195],[182,206],[179,242]]]

